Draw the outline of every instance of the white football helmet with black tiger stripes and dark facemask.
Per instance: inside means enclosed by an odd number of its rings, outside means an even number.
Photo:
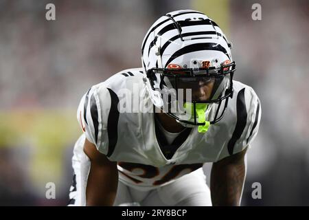
[[[141,47],[144,82],[152,103],[181,124],[207,131],[209,124],[223,117],[233,95],[236,65],[230,49],[222,30],[202,12],[178,10],[159,18]],[[213,85],[207,100],[195,97],[194,91],[207,83]],[[183,91],[190,97],[179,98]],[[173,103],[176,111],[171,109]]]

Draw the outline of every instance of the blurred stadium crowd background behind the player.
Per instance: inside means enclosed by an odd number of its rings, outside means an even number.
[[[228,27],[235,78],[260,96],[242,205],[308,206],[309,2],[214,2],[1,0],[0,205],[66,205],[80,98],[91,85],[140,66],[141,41],[158,17],[192,8]],[[56,21],[46,21],[47,3],[56,5]],[[262,21],[251,19],[253,3],[262,5]],[[45,198],[49,181],[56,199]],[[262,199],[251,197],[256,181]]]

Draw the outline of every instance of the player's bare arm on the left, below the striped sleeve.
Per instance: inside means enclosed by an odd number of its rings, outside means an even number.
[[[113,206],[117,193],[117,162],[111,162],[87,139],[84,153],[90,159],[91,167],[86,188],[86,206]]]

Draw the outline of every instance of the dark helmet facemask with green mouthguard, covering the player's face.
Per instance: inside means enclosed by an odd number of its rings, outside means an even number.
[[[164,113],[184,126],[198,126],[198,131],[205,133],[225,113],[233,94],[235,70],[234,62],[219,67],[152,68],[147,77],[152,89],[161,94]],[[220,108],[223,100],[225,107]]]

